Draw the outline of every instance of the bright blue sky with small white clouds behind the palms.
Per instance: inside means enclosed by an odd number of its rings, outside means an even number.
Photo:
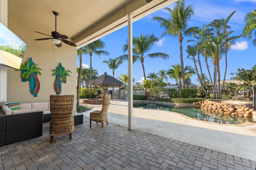
[[[244,16],[256,8],[256,0],[186,0],[186,4],[194,5],[194,16],[191,17],[188,27],[198,26],[202,28],[204,24],[208,24],[215,19],[226,19],[233,11],[236,11],[235,14],[230,19],[228,25],[231,26],[231,29],[228,31],[234,31],[232,36],[242,34],[242,29],[244,27]],[[174,4],[168,6],[173,8]],[[133,23],[133,37],[139,37],[142,33],[144,35],[149,35],[154,33],[156,37],[160,37],[164,32],[164,29],[160,28],[160,24],[157,21],[152,21],[154,16],[160,16],[162,18],[170,17],[170,14],[166,13],[163,9],[158,10],[136,22]],[[253,34],[254,35],[254,34]],[[127,26],[111,33],[101,40],[105,43],[106,48],[104,51],[110,53],[111,58],[119,57],[124,55],[122,47],[127,43],[128,37],[128,28]],[[252,37],[254,39],[254,37]],[[192,37],[184,37],[183,39],[183,60],[184,66],[189,65],[194,68],[194,63],[187,59],[186,47],[187,45],[193,45],[192,42],[188,42],[188,39]],[[256,47],[252,45],[252,40],[246,38],[240,38],[236,41],[236,44],[228,52],[228,70],[226,74],[226,80],[230,80],[232,75],[230,73],[237,72],[238,68],[250,69],[254,64],[256,64],[255,56]],[[158,43],[156,43],[150,53],[166,53],[170,57],[167,61],[164,59],[150,59],[146,58],[144,60],[144,67],[146,76],[150,72],[159,72],[159,70],[168,70],[172,68],[172,65],[180,63],[180,49],[177,37],[162,37]],[[125,53],[127,54],[127,53]],[[107,74],[112,75],[112,70],[110,70],[106,63],[102,63],[104,60],[108,60],[108,56],[102,55],[100,58],[96,55],[92,55],[92,68],[98,71],[98,75]],[[90,67],[90,57],[89,55],[82,56],[82,66],[84,68]],[[209,78],[206,65],[202,58],[201,60],[203,72],[206,73],[206,76]],[[208,64],[210,65],[210,71],[213,75],[212,61],[208,59]],[[77,59],[77,66],[79,65],[79,59]],[[225,60],[220,61],[220,71],[221,79],[223,79],[225,70]],[[128,74],[128,62],[125,61],[119,68],[115,70],[114,77],[120,77],[120,74]],[[137,61],[133,64],[133,78],[135,82],[140,81],[142,83],[143,71],[140,61]],[[143,78],[143,79],[142,79]],[[194,75],[191,77],[192,83],[199,84],[196,81],[197,76]],[[175,83],[175,80],[168,78],[168,82],[171,84]]]

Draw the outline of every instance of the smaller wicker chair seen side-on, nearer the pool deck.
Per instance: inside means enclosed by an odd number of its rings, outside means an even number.
[[[107,122],[108,125],[108,106],[110,102],[110,94],[104,94],[102,109],[92,111],[90,113],[90,127],[92,126],[92,121],[96,121],[96,123],[102,123],[102,128],[104,127],[103,123]]]

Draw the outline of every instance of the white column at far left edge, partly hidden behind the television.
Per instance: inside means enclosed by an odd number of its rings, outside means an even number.
[[[8,25],[8,1],[0,0],[0,22]],[[7,67],[0,65],[0,102],[7,101]]]

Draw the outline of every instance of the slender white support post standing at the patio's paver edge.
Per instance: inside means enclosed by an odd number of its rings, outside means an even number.
[[[132,90],[132,15],[128,14],[128,129],[133,129],[133,90]]]

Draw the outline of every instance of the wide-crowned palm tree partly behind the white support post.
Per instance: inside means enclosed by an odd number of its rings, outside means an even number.
[[[164,60],[169,59],[169,55],[165,53],[150,53],[146,55],[146,53],[150,52],[152,47],[154,46],[154,43],[156,43],[159,40],[159,38],[156,38],[154,34],[151,35],[143,35],[143,33],[140,35],[140,37],[133,37],[132,43],[133,43],[133,63],[140,60],[142,64],[142,70],[144,75],[144,80],[146,80],[146,74],[145,74],[145,68],[144,68],[144,59],[146,57],[149,57],[151,59],[154,58],[161,58]],[[123,46],[123,51],[126,52],[128,50],[128,44],[125,44]],[[122,60],[128,60],[128,55],[121,55],[119,57]]]

